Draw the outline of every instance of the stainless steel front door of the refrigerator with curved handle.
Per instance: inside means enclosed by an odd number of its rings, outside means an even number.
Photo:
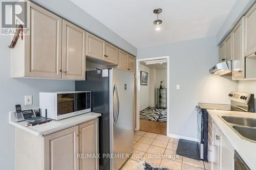
[[[133,152],[133,74],[112,69],[110,71],[110,88],[112,91],[111,159],[112,168],[119,169]],[[111,78],[112,77],[112,78]],[[110,93],[111,94],[111,93]]]

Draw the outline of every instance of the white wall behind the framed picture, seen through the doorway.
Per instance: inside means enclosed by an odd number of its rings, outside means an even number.
[[[140,64],[140,71],[148,73],[147,86],[140,85],[140,110],[143,110],[150,106],[150,68]]]

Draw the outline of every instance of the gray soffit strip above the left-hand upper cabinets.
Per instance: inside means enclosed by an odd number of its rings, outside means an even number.
[[[116,45],[122,50],[136,56],[137,48],[104,26],[100,21],[83,11],[69,0],[33,0],[32,2],[45,7],[77,26],[97,35],[98,37]],[[96,8],[95,8],[96,9]]]

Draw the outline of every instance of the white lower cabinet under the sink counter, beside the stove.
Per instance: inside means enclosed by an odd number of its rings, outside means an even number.
[[[234,149],[215,123],[212,137],[212,143],[208,141],[208,161],[211,169],[234,169]]]

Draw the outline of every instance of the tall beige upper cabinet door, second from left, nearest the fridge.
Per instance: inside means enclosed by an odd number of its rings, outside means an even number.
[[[62,21],[62,79],[85,80],[86,31]]]

